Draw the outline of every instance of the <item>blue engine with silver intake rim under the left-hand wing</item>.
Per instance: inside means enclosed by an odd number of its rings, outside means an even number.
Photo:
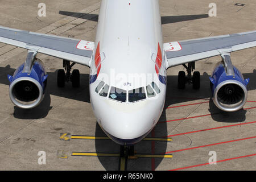
[[[34,52],[28,52],[26,62],[16,69],[13,76],[8,75],[8,79],[10,99],[16,106],[30,109],[43,100],[47,74]]]

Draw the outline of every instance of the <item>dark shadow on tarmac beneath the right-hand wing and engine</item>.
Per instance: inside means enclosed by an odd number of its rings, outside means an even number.
[[[177,76],[168,76],[167,96],[166,96],[166,107],[181,102],[188,102],[193,100],[201,100],[199,102],[209,101],[209,114],[214,121],[217,122],[242,122],[245,121],[246,110],[238,110],[234,112],[225,112],[218,109],[212,101],[209,75],[203,73],[201,75],[201,88],[200,90],[194,90],[192,85],[186,85],[184,90],[177,89]],[[256,80],[256,69],[252,73],[243,73],[244,78],[250,78],[250,82],[247,85],[247,90],[255,90],[256,84],[253,80]]]

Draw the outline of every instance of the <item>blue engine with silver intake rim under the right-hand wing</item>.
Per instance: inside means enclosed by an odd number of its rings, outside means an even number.
[[[231,63],[229,55],[218,63],[210,77],[210,88],[214,104],[224,111],[237,111],[247,100],[246,85],[249,78],[244,79],[241,72]]]

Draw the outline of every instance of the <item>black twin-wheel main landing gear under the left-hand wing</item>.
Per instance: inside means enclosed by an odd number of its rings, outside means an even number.
[[[76,63],[70,64],[70,61],[63,60],[63,68],[57,71],[57,86],[64,87],[65,82],[72,81],[72,86],[78,88],[80,86],[80,72],[78,69],[73,69],[71,75],[71,68]],[[66,73],[65,73],[66,72]]]

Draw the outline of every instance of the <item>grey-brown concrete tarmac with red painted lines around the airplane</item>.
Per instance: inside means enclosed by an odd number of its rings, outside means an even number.
[[[38,16],[42,2],[46,17]],[[164,42],[256,30],[254,0],[242,1],[243,6],[216,0],[217,16],[208,18],[205,15],[212,8],[211,0],[159,3]],[[0,25],[94,42],[99,9],[99,0],[1,1]],[[74,17],[72,13],[78,14]],[[56,70],[62,67],[62,60],[38,54],[48,72],[46,96],[38,107],[23,110],[10,101],[7,74],[13,75],[26,56],[25,49],[0,43],[0,170],[118,170],[117,157],[72,156],[72,152],[119,152],[112,140],[71,138],[105,136],[90,105],[89,68],[74,67],[81,73],[80,88],[72,88],[71,82],[58,88]],[[173,157],[129,159],[127,170],[256,170],[256,49],[231,56],[243,76],[250,78],[244,108],[224,113],[210,100],[209,76],[220,56],[196,62],[196,71],[201,73],[200,90],[192,85],[177,89],[177,74],[184,68],[168,69],[166,109],[148,137],[168,136],[172,141],[142,141],[135,150],[138,154],[167,153]],[[38,163],[39,151],[45,152],[46,164]],[[215,156],[217,163],[209,164]]]

